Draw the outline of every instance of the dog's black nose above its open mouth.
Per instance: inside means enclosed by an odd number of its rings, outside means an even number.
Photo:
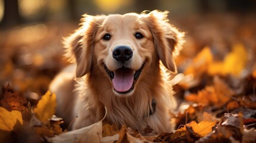
[[[116,60],[125,63],[132,57],[132,54],[132,49],[129,46],[116,46],[112,55]]]

